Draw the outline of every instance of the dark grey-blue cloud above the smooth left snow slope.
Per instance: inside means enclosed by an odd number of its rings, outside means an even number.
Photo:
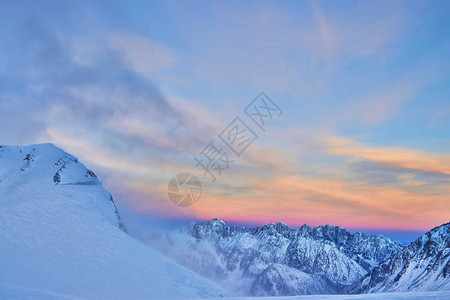
[[[93,125],[131,111],[141,111],[149,117],[164,115],[174,123],[184,122],[157,87],[128,69],[121,57],[106,46],[91,65],[83,65],[72,58],[68,44],[63,44],[44,20],[31,18],[21,26],[20,40],[29,44],[21,45],[24,60],[14,66],[17,70],[10,71],[11,77],[20,81],[24,89],[6,91],[1,97],[3,101],[14,102],[14,105],[4,104],[6,108],[20,107],[32,112],[24,121],[45,124],[44,118],[33,117],[61,105],[77,114],[78,121]],[[20,76],[15,77],[14,72]]]

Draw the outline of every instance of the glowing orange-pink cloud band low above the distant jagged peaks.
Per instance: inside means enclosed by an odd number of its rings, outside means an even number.
[[[301,176],[255,181],[252,197],[202,196],[197,215],[253,223],[278,221],[283,216],[283,222],[295,226],[319,225],[326,220],[347,228],[379,229],[426,229],[448,218],[448,197],[444,193],[424,197],[391,187],[358,187],[339,179]],[[415,220],[413,224],[411,219]]]

